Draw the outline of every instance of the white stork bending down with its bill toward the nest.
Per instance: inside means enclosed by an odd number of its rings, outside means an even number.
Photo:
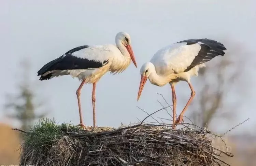
[[[197,76],[198,70],[205,67],[207,62],[218,55],[224,55],[226,48],[220,42],[210,39],[184,40],[168,45],[158,50],[150,62],[146,62],[140,69],[141,81],[138,92],[139,100],[147,78],[151,84],[164,86],[168,82],[172,89],[173,102],[173,128],[183,121],[183,115],[195,96],[195,91],[190,83],[191,76]],[[176,119],[176,94],[174,85],[179,81],[186,81],[191,89],[191,96]]]

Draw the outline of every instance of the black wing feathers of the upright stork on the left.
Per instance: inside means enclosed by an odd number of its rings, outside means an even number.
[[[75,69],[88,69],[88,68],[100,68],[108,63],[108,60],[104,60],[103,62],[88,60],[86,58],[79,58],[73,56],[72,53],[79,51],[81,49],[89,48],[88,45],[83,45],[80,47],[76,47],[72,50],[69,50],[64,55],[56,58],[47,64],[45,64],[39,71],[38,76],[43,75],[44,73],[52,70],[75,70]],[[46,76],[41,76],[40,80],[49,79],[52,74],[48,74]]]

